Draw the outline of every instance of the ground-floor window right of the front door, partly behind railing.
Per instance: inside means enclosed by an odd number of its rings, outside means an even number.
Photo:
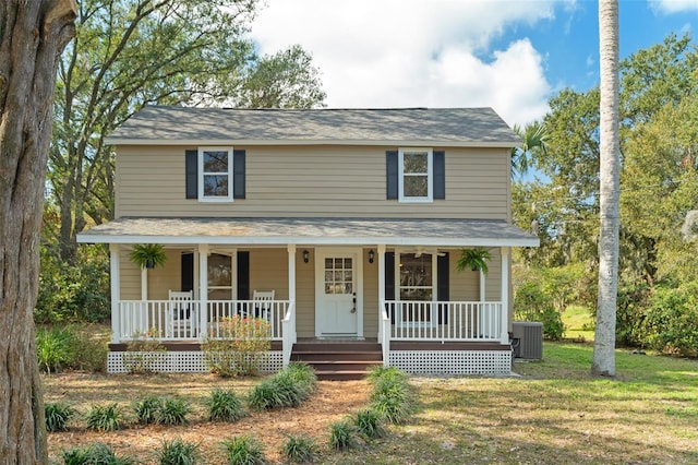
[[[436,277],[434,255],[400,253],[398,270],[401,321],[431,325]]]

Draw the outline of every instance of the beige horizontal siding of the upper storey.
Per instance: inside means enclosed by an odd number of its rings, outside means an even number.
[[[185,148],[119,147],[117,217],[508,217],[503,148],[446,148],[446,200],[418,204],[385,199],[385,151],[396,147],[236,147],[246,150],[246,198],[232,203],[184,198]]]

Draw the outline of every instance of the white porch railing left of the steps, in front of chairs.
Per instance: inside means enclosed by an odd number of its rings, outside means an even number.
[[[158,341],[200,341],[206,336],[220,337],[217,322],[234,315],[264,318],[270,324],[270,339],[281,341],[281,320],[288,300],[209,300],[202,312],[198,300],[184,305],[171,300],[120,300],[118,341],[148,336]]]

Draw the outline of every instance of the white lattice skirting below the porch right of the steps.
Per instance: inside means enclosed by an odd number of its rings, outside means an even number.
[[[390,350],[389,365],[411,374],[512,373],[509,350]]]

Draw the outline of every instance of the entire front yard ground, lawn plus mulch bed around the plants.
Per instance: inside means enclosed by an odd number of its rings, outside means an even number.
[[[520,378],[412,378],[417,410],[382,440],[333,452],[329,424],[368,404],[370,385],[318,382],[299,408],[255,413],[236,424],[205,419],[203,401],[215,386],[243,394],[258,379],[221,380],[201,374],[45,377],[46,401],[65,402],[85,414],[94,404],[118,402],[128,410],[148,394],[178,396],[194,406],[186,427],[131,426],[92,432],[76,417],[68,432],[50,433],[51,456],[100,441],[118,455],[155,463],[164,439],[201,444],[207,464],[224,463],[219,442],[238,434],[258,439],[280,463],[286,434],[304,433],[322,448],[318,463],[698,463],[698,361],[617,351],[618,378],[589,375],[591,346],[545,344],[544,360],[516,363]]]

